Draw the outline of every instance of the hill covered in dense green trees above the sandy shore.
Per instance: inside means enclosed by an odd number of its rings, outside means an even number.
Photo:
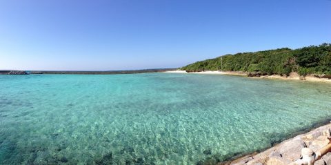
[[[291,50],[280,48],[259,52],[240,52],[214,59],[198,61],[180,70],[200,72],[204,70],[261,72],[265,75],[331,75],[331,44],[309,46]]]

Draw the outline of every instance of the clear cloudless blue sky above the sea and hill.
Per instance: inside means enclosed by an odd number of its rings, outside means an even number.
[[[323,42],[330,0],[0,0],[0,69],[177,68]]]

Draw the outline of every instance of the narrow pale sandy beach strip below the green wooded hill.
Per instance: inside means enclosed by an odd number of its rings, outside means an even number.
[[[202,72],[186,72],[185,70],[172,70],[165,71],[166,73],[190,73],[201,75],[238,75],[248,77],[249,72],[241,71],[202,71]],[[292,72],[288,77],[281,75],[261,75],[259,77],[250,77],[253,79],[282,79],[282,80],[294,80],[294,81],[310,81],[310,82],[325,82],[331,83],[331,79],[314,77],[314,75],[307,75],[305,77],[299,76],[297,72]]]

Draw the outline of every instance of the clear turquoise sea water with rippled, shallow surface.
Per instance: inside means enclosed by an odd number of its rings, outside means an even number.
[[[216,164],[331,117],[331,84],[0,75],[0,164]]]

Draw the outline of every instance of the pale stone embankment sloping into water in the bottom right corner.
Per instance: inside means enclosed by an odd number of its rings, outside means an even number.
[[[308,147],[312,151],[319,151],[320,148],[326,146],[331,138],[331,124],[316,128],[309,133],[297,135],[292,139],[285,140],[281,144],[277,144],[272,148],[261,153],[246,155],[230,162],[225,162],[219,165],[286,165],[299,159],[301,149]],[[331,164],[331,153],[324,155],[314,165]]]

